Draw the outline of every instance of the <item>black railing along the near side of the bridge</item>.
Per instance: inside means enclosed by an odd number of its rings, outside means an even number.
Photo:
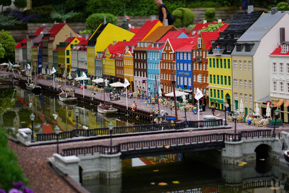
[[[67,148],[63,149],[61,155],[69,156],[69,155],[93,155],[94,153],[101,154],[116,154],[119,152],[128,152],[135,150],[151,150],[158,148],[165,148],[165,146],[192,146],[199,144],[210,144],[216,142],[225,141],[235,141],[234,133],[213,133],[207,135],[195,135],[188,137],[178,137],[178,138],[167,138],[167,139],[153,139],[153,140],[145,140],[145,141],[131,141],[120,143],[114,145],[110,148],[110,146],[89,146],[89,147],[77,147],[77,148]],[[240,141],[242,138],[253,138],[253,137],[269,137],[271,138],[271,130],[253,130],[253,131],[241,131],[236,135],[236,141]]]

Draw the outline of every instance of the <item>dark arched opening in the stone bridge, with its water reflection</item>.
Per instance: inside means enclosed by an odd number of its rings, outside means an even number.
[[[264,174],[272,169],[272,158],[273,150],[272,147],[267,144],[258,145],[254,152],[256,152],[256,172]]]

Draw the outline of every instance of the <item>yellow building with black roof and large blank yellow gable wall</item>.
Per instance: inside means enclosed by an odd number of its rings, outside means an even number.
[[[87,45],[87,72],[95,78],[95,57],[97,52],[102,52],[109,45],[118,41],[129,41],[135,34],[111,23],[99,24],[96,30],[89,37]],[[115,72],[114,76],[115,76]]]

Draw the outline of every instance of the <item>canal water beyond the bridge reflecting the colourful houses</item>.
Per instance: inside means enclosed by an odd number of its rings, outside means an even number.
[[[76,128],[75,109],[79,110],[79,128],[102,128],[107,127],[110,121],[114,126],[131,126],[134,124],[144,124],[142,120],[135,117],[126,117],[121,113],[115,115],[102,115],[97,113],[97,108],[86,109],[77,103],[60,102],[58,97],[51,98],[38,93],[28,93],[26,90],[1,89],[0,98],[0,126],[11,135],[19,128],[31,128],[29,116],[33,113],[36,117],[36,133],[51,133],[54,126],[58,125],[61,131],[69,131]],[[12,100],[13,99],[13,100]],[[15,132],[14,132],[15,131]],[[14,135],[15,136],[15,135]]]

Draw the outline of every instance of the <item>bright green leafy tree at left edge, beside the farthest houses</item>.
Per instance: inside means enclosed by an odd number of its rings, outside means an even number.
[[[16,46],[16,42],[14,38],[11,36],[10,32],[2,30],[0,32],[0,43],[5,49],[5,55],[2,59],[2,62],[9,62],[15,60],[15,51],[14,47]]]

